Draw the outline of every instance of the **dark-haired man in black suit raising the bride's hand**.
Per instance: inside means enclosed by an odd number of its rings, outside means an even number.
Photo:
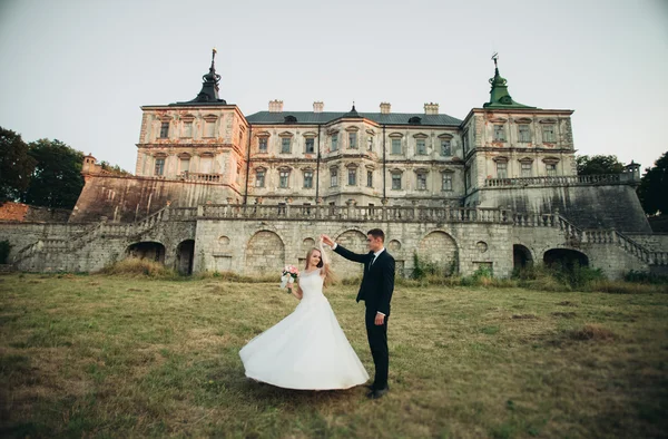
[[[367,394],[371,399],[382,398],[387,393],[387,319],[390,319],[390,301],[394,291],[394,257],[385,250],[385,234],[373,228],[366,234],[369,253],[358,254],[337,245],[330,236],[323,235],[323,242],[348,261],[364,264],[364,276],[357,293],[357,302],[366,303],[366,336],[375,364],[375,379]]]

